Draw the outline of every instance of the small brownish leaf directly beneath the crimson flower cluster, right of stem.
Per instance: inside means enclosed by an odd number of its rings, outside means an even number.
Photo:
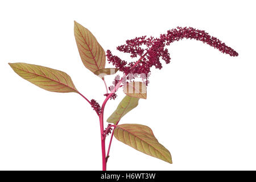
[[[147,98],[147,86],[143,82],[129,82],[123,86],[123,92],[131,97]]]

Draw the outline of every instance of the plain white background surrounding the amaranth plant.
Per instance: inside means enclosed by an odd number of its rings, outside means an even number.
[[[64,71],[102,103],[104,84],[77,51],[76,20],[123,59],[115,47],[125,40],[176,26],[205,30],[239,53],[230,57],[196,40],[172,43],[171,64],[153,69],[147,100],[120,123],[151,127],[173,164],[114,138],[109,170],[255,170],[254,8],[254,1],[1,1],[0,169],[101,170],[100,127],[90,105],[76,93],[40,89],[7,64]],[[123,97],[119,90],[108,102],[105,119]]]

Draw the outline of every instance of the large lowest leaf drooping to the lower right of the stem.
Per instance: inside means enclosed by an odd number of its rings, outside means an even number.
[[[150,127],[138,124],[117,125],[114,136],[144,154],[172,164],[170,152],[155,138]]]

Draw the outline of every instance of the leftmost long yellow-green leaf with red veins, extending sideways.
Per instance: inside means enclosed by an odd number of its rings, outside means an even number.
[[[56,69],[27,63],[9,63],[14,72],[25,80],[50,92],[77,92],[71,77]]]

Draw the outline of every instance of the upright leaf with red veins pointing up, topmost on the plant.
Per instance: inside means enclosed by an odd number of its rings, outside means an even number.
[[[106,55],[104,49],[97,42],[93,34],[75,21],[74,33],[77,48],[85,67],[93,73],[105,68]]]

